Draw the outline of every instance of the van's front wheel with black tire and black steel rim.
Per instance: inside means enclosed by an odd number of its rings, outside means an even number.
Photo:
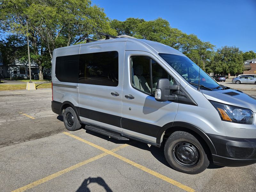
[[[201,173],[210,163],[206,147],[203,148],[193,135],[183,131],[169,136],[164,145],[164,156],[173,169],[187,174]]]

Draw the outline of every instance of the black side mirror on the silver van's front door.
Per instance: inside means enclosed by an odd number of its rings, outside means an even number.
[[[157,101],[176,100],[177,95],[170,95],[170,90],[178,91],[179,86],[170,86],[169,79],[158,79],[156,85],[155,99]]]

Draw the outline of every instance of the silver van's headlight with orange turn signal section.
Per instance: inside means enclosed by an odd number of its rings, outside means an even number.
[[[253,113],[250,109],[227,105],[216,101],[210,102],[217,109],[220,118],[223,121],[243,124],[253,124],[254,122]]]

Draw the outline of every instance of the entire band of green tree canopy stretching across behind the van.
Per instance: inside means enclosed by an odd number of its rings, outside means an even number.
[[[8,57],[5,63],[28,59],[26,20],[31,58],[38,63],[39,79],[43,79],[43,68],[51,67],[53,49],[72,45],[82,36],[102,38],[99,32],[169,45],[207,73],[241,73],[243,61],[256,57],[253,51],[242,53],[238,48],[228,46],[215,52],[215,46],[210,42],[172,28],[162,18],[109,20],[104,10],[92,5],[90,0],[0,0],[0,34],[3,35],[0,48]]]

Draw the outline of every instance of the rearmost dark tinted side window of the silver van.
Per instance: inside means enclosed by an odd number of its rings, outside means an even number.
[[[55,75],[61,82],[78,83],[79,55],[56,57]]]

